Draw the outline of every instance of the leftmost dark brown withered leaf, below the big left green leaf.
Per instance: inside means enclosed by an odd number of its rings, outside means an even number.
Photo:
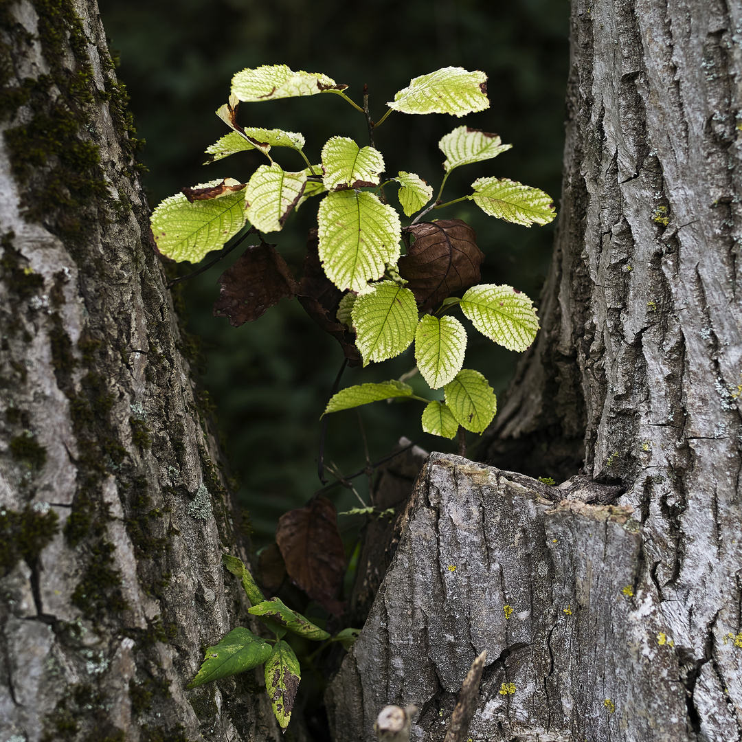
[[[283,297],[294,298],[297,284],[289,266],[272,245],[252,245],[220,276],[214,317],[229,317],[239,327],[257,320]]]

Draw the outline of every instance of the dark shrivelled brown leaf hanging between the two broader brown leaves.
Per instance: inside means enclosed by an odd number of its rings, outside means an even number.
[[[297,298],[306,313],[340,343],[349,365],[359,366],[361,354],[355,347],[355,334],[335,317],[343,292],[326,277],[318,244],[317,229],[310,229],[306,240],[304,275],[296,289]]]

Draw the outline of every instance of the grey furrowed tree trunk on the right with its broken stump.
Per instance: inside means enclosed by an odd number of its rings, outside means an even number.
[[[338,741],[386,703],[442,739],[482,649],[475,740],[742,739],[741,29],[723,0],[573,0],[543,329],[485,452],[572,479],[430,456]]]

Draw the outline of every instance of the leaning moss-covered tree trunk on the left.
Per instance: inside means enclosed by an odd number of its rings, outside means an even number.
[[[278,739],[95,0],[0,9],[0,739]],[[203,735],[203,737],[201,736]]]

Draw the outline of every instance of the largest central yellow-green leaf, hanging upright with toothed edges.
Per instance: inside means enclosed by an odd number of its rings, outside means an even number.
[[[341,291],[362,291],[399,257],[397,212],[367,191],[333,191],[320,204],[319,255],[327,278]]]

